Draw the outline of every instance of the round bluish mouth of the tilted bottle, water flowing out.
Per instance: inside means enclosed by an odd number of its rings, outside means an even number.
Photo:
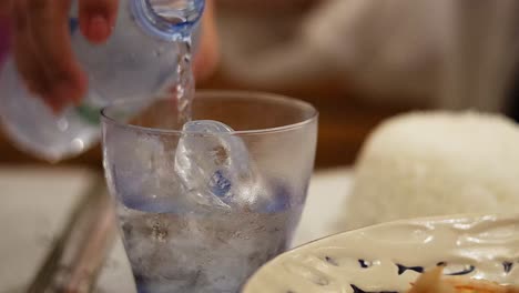
[[[166,41],[191,36],[205,7],[205,0],[131,0],[135,21],[147,33]]]

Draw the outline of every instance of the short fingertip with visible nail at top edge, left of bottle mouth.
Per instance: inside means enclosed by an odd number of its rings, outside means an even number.
[[[93,43],[104,42],[115,26],[118,0],[81,0],[79,2],[80,29]]]

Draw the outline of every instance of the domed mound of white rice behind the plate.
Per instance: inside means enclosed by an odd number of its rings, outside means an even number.
[[[340,229],[415,216],[519,212],[519,128],[505,117],[416,112],[362,150]]]

